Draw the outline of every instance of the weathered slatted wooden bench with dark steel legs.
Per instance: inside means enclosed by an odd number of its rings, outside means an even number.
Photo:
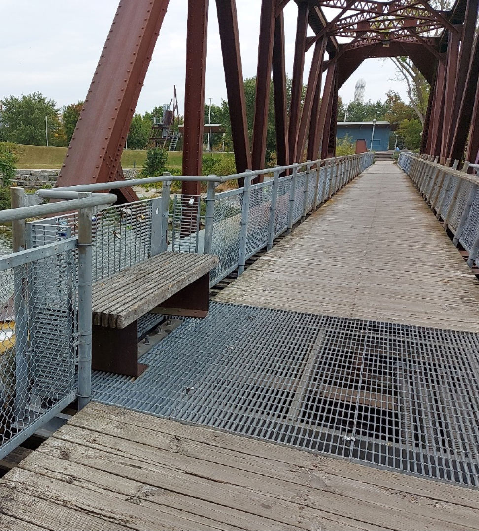
[[[205,317],[216,256],[160,253],[93,284],[92,369],[139,376],[137,320],[145,313]]]

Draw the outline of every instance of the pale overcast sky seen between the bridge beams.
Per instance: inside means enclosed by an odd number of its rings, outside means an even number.
[[[58,107],[84,99],[104,45],[118,0],[0,0],[0,98],[40,91]],[[260,0],[237,0],[243,75],[256,75]],[[293,70],[296,4],[285,8],[286,71]],[[180,113],[185,92],[187,0],[171,0],[160,31],[137,111],[169,102],[176,84]],[[311,30],[309,30],[311,33]],[[308,79],[312,49],[307,54]],[[339,91],[345,102],[354,97],[359,78],[365,100],[384,99],[387,90],[406,98],[388,59],[368,59]],[[219,105],[226,98],[215,2],[210,1],[206,98]],[[207,99],[208,101],[208,99]],[[341,118],[341,117],[340,117]]]

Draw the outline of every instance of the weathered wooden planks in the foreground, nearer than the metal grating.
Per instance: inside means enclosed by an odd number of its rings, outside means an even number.
[[[95,403],[0,491],[0,529],[479,528],[477,490]]]

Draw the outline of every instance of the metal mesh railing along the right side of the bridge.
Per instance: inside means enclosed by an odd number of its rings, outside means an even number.
[[[438,164],[437,158],[401,153],[398,165],[419,190],[443,226],[469,253],[469,267],[479,265],[479,177],[466,173],[479,166],[465,162],[462,170]]]

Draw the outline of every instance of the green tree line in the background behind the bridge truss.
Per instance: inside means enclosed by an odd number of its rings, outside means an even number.
[[[256,78],[244,80],[248,134],[252,145]],[[303,86],[303,98],[306,86]],[[286,79],[286,96],[288,112],[291,102],[291,79]],[[48,99],[40,92],[32,92],[20,97],[9,96],[0,100],[2,115],[0,121],[0,142],[12,142],[24,145],[46,145],[46,129],[48,126],[48,144],[55,147],[67,146],[72,138],[77,120],[80,116],[83,101],[78,101],[58,108],[55,100]],[[135,113],[128,132],[129,149],[146,149],[152,124],[161,121],[163,109],[154,107],[144,114]],[[422,123],[411,104],[406,104],[397,92],[388,91],[384,100],[352,101],[348,105],[339,99],[338,121],[365,122],[372,119],[399,124],[398,134],[404,146],[418,149],[421,142]],[[210,119],[210,106],[205,105],[204,123]],[[180,123],[183,117],[180,116]],[[222,125],[224,133],[214,133],[211,145],[214,150],[233,150],[231,123],[228,101],[222,99],[220,105],[211,105],[211,123]],[[180,145],[180,144],[179,144]],[[206,147],[206,146],[205,146]],[[274,96],[271,86],[268,105],[268,127],[266,135],[266,162],[276,162],[276,133],[274,117]]]

